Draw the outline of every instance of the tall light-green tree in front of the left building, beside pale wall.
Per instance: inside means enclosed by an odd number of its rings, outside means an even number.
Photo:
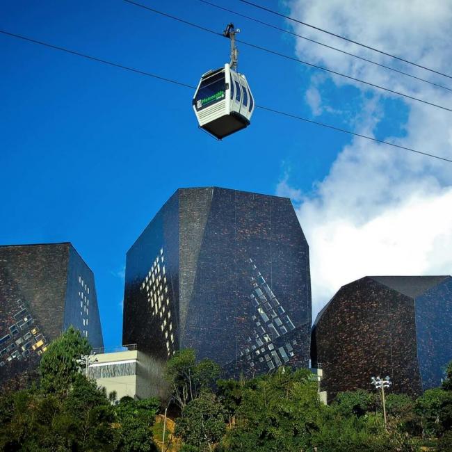
[[[70,326],[49,344],[40,362],[40,388],[46,393],[67,392],[79,373],[77,360],[90,353],[91,346],[79,330]]]

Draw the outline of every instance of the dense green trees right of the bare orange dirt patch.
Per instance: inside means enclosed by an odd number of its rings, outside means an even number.
[[[379,394],[344,392],[325,406],[306,369],[240,381],[218,375],[213,362],[196,364],[193,350],[181,350],[168,364],[181,407],[175,433],[182,451],[452,451],[452,363],[442,387],[415,401],[387,394],[387,428]],[[183,404],[179,394],[186,394]]]

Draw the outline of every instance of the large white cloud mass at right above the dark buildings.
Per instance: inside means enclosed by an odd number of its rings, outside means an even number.
[[[449,45],[452,2],[303,0],[291,1],[289,6],[291,15],[305,22],[452,73]],[[301,25],[288,25],[309,38],[452,86],[451,79],[403,65]],[[452,106],[452,95],[446,90],[305,40],[296,42],[296,53],[312,63]],[[305,95],[314,115],[325,109],[323,80],[313,77]],[[351,123],[355,131],[373,135],[388,114],[382,100],[389,95],[337,76],[332,81],[338,88],[353,83],[362,96],[371,91],[370,100],[366,99],[364,108]],[[401,125],[406,135],[378,138],[452,158],[452,113],[419,102],[405,102],[409,115],[406,124]],[[328,108],[341,110],[340,105]],[[298,216],[311,253],[314,316],[341,285],[364,275],[452,273],[452,164],[360,138],[337,152],[328,176],[317,181],[309,197],[289,186],[286,175],[277,187],[278,193],[289,196],[293,193],[294,200],[302,200]]]

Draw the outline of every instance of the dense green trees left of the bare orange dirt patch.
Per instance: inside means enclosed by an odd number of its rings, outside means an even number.
[[[40,362],[40,380],[0,399],[0,450],[29,452],[156,451],[151,427],[157,399],[110,397],[79,372],[90,346],[69,328]]]

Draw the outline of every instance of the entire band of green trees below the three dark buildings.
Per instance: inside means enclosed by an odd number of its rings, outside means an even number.
[[[157,451],[152,428],[168,402],[179,412],[168,452],[452,451],[452,363],[442,386],[417,400],[387,394],[385,428],[378,394],[344,392],[325,406],[305,369],[219,380],[220,367],[193,350],[168,362],[167,401],[116,401],[80,372],[89,351],[70,328],[42,357],[39,382],[0,398],[1,451]]]

